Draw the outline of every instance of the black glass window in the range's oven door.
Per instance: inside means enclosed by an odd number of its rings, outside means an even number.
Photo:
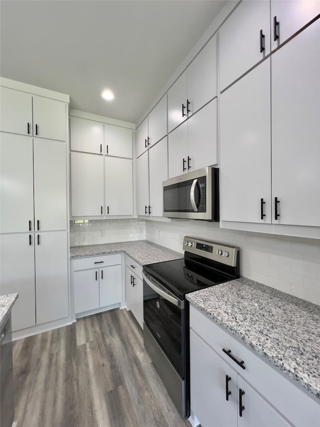
[[[143,320],[175,369],[182,370],[182,316],[184,310],[155,293],[143,281]]]

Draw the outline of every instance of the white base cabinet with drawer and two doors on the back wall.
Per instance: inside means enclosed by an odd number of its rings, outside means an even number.
[[[122,302],[121,254],[73,260],[75,317],[116,308]]]

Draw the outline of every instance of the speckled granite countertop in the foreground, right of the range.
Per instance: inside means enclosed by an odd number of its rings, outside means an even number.
[[[187,299],[320,399],[320,306],[245,278]]]

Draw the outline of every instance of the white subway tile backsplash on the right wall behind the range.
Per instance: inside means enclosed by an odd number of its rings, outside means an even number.
[[[220,229],[218,224],[146,221],[146,240],[183,253],[183,236],[239,246],[240,275],[320,305],[320,240]]]

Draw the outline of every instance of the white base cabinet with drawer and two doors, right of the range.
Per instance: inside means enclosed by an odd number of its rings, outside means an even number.
[[[190,306],[190,405],[202,427],[320,425],[320,405]]]

